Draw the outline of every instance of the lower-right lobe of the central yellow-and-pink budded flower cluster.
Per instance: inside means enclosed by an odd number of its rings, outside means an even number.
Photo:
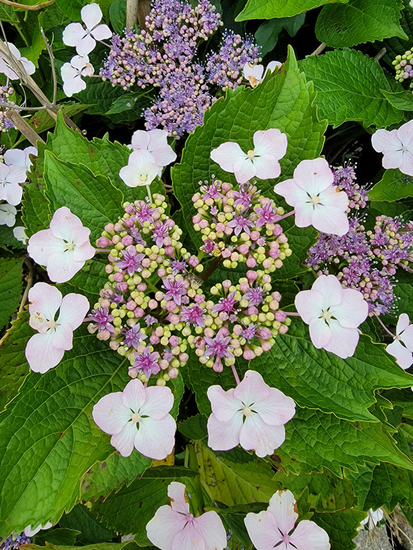
[[[278,333],[288,331],[290,319],[278,311],[281,294],[271,292],[271,277],[262,270],[247,271],[237,285],[225,280],[211,287],[213,299],[205,303],[205,315],[188,315],[197,336],[188,336],[201,363],[216,372],[234,365],[235,357],[250,361],[271,350]],[[218,298],[218,300],[216,300]]]

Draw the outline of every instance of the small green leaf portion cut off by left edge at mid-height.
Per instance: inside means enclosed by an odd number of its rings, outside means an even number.
[[[0,329],[9,323],[21,302],[24,258],[0,258]]]

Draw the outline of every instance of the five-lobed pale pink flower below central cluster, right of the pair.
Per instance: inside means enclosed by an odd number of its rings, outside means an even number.
[[[208,418],[208,446],[227,451],[237,445],[254,449],[258,457],[273,454],[285,440],[284,424],[293,418],[293,399],[264,382],[259,372],[249,370],[236,388],[208,388],[213,410]]]

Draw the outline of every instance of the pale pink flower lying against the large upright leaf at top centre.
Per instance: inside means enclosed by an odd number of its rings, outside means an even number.
[[[287,151],[287,136],[278,128],[255,132],[254,149],[247,153],[239,144],[225,142],[211,151],[211,159],[220,165],[222,170],[234,173],[238,183],[245,183],[251,178],[269,180],[281,174],[278,162]]]

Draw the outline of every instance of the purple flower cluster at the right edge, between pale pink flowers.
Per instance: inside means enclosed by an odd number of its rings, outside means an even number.
[[[360,220],[351,219],[344,236],[320,234],[306,265],[319,270],[318,275],[329,275],[336,265],[334,275],[341,285],[361,292],[373,316],[395,306],[397,268],[411,270],[412,262],[413,224],[379,216],[373,231],[366,231]]]

